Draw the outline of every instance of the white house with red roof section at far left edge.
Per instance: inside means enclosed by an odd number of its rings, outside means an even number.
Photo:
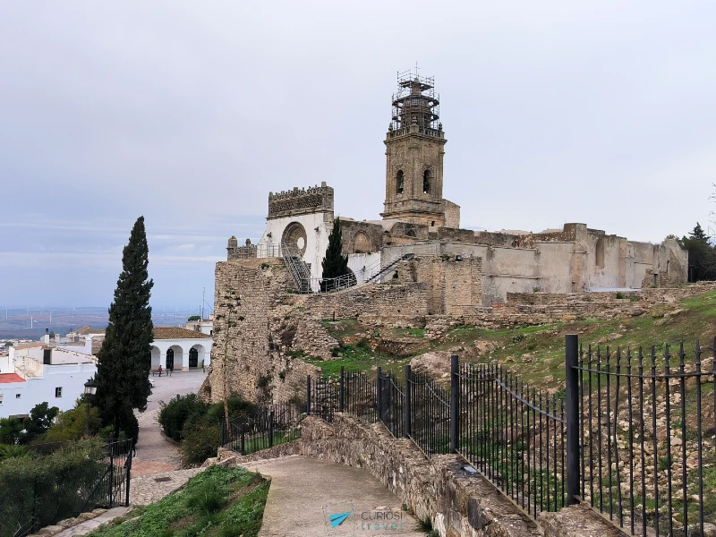
[[[84,383],[97,372],[97,358],[45,343],[18,345],[0,356],[0,418],[27,416],[47,402],[71,410]]]

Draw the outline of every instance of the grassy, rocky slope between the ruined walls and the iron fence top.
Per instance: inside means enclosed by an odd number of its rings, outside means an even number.
[[[333,361],[310,362],[321,367],[324,375],[335,376],[341,366],[346,369],[384,370],[400,374],[405,363],[426,352],[446,351],[460,355],[461,361],[499,362],[509,365],[520,379],[535,387],[560,389],[564,383],[564,341],[567,334],[578,334],[586,350],[588,345],[632,351],[642,346],[644,353],[652,345],[662,356],[666,345],[678,351],[684,343],[690,361],[698,340],[712,347],[716,337],[716,290],[697,294],[684,301],[660,303],[635,317],[615,320],[570,320],[539,326],[490,330],[460,326],[447,331],[439,340],[424,337],[421,328],[380,328],[362,325],[354,319],[326,320],[328,333],[336,337],[339,347]],[[386,345],[386,339],[394,341]],[[704,354],[706,358],[710,354]],[[661,357],[660,357],[661,361]]]

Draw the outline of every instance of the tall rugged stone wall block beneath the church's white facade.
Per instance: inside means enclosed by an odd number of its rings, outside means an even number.
[[[217,263],[214,348],[201,393],[212,402],[229,394],[252,402],[283,402],[301,393],[317,368],[291,357],[298,329],[293,281],[282,260]]]

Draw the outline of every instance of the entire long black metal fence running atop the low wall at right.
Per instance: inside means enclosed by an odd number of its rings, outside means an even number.
[[[635,535],[700,535],[716,524],[714,349],[613,352],[567,336],[565,388],[550,392],[456,355],[449,389],[410,366],[402,380],[341,369],[309,379],[307,411],[459,453],[533,517],[586,502]]]

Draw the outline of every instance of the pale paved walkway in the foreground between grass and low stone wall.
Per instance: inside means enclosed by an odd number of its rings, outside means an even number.
[[[360,468],[298,455],[242,466],[271,478],[260,537],[425,536],[400,499]],[[329,516],[339,514],[346,518],[332,528]]]

